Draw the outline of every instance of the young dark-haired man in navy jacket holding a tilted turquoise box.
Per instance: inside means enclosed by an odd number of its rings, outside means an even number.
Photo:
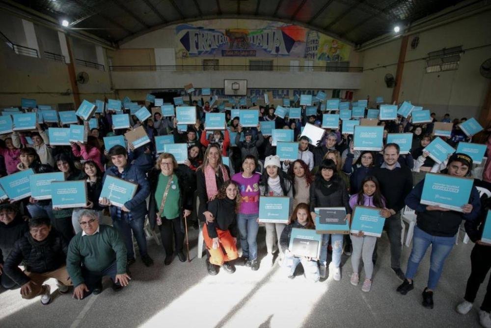
[[[135,236],[141,260],[145,266],[153,265],[153,260],[147,254],[147,240],[143,227],[145,225],[145,215],[147,214],[146,198],[150,195],[150,186],[148,184],[145,172],[136,165],[128,162],[128,152],[120,145],[109,149],[109,156],[114,166],[106,170],[104,180],[108,175],[136,183],[138,188],[136,194],[131,200],[126,202],[123,207],[111,205],[107,198],[101,198],[99,204],[109,206],[112,224],[125,241],[128,250],[128,266],[135,263],[135,252],[133,250],[132,232]]]

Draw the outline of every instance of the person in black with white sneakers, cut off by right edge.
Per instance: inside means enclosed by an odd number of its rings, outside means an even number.
[[[465,221],[465,232],[469,236],[470,240],[475,242],[474,248],[470,253],[470,265],[471,272],[469,279],[467,280],[467,287],[465,289],[464,301],[457,305],[457,312],[460,314],[467,314],[473,306],[473,302],[476,299],[477,291],[484,282],[488,271],[491,268],[491,242],[489,240],[483,240],[483,230],[486,222],[491,225],[491,198],[487,198],[482,201],[482,211],[477,220]],[[489,230],[490,228],[487,227]],[[484,300],[479,309],[479,321],[483,327],[491,327],[491,278],[488,281],[488,289]]]

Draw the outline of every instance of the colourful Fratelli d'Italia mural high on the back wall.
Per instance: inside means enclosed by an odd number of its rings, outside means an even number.
[[[351,46],[297,25],[239,20],[229,24],[241,27],[232,28],[226,27],[224,21],[176,26],[177,57],[294,57],[344,61],[350,55]]]

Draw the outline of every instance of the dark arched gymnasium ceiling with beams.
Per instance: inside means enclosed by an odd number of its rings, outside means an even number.
[[[7,2],[7,1],[2,1]],[[13,1],[10,1],[13,2]],[[113,44],[200,19],[257,18],[297,23],[353,44],[391,32],[462,0],[19,0],[70,28]]]

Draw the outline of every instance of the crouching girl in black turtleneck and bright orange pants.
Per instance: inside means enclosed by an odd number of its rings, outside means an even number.
[[[203,227],[203,238],[210,253],[211,264],[221,266],[226,272],[234,273],[230,261],[238,258],[237,253],[237,211],[241,196],[238,185],[228,180],[221,186],[217,198],[208,204],[213,215],[212,222]]]

